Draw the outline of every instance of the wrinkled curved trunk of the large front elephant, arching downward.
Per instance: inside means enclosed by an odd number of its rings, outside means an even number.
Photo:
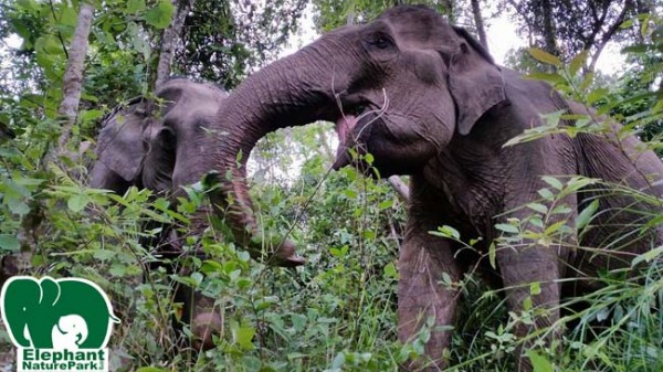
[[[347,88],[347,77],[335,76],[346,71],[337,60],[348,59],[334,54],[338,46],[320,41],[299,52],[262,68],[242,83],[223,103],[217,127],[238,126],[223,136],[221,153],[217,157],[221,167],[221,190],[225,199],[225,216],[234,236],[245,246],[261,248],[261,233],[253,214],[252,201],[246,185],[246,160],[257,140],[280,128],[302,126],[315,120],[334,120],[338,116],[336,92]],[[312,109],[313,107],[313,109]],[[222,205],[224,203],[221,203]],[[294,252],[288,242],[274,242],[267,247],[276,248],[278,256]],[[277,244],[282,243],[281,246]]]

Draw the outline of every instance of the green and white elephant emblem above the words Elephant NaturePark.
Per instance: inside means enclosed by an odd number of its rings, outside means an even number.
[[[13,276],[0,298],[2,321],[21,348],[63,349],[73,343],[75,349],[102,349],[113,323],[119,322],[104,291],[80,278]],[[65,334],[70,332],[73,342]]]

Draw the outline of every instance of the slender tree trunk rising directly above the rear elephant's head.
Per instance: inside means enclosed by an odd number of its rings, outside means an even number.
[[[185,20],[189,14],[196,0],[173,0],[176,7],[175,17],[172,22],[161,36],[161,49],[159,53],[159,64],[157,65],[157,79],[155,82],[155,89],[158,89],[164,82],[170,77],[170,64],[172,62],[172,54],[175,47],[181,35],[182,28],[185,26]]]

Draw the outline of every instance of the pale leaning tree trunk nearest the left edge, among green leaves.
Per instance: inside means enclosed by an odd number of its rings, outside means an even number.
[[[69,61],[64,72],[63,98],[57,113],[65,118],[62,132],[57,139],[57,148],[51,148],[46,153],[46,162],[55,160],[59,153],[65,153],[66,142],[72,135],[72,128],[76,124],[81,91],[83,88],[83,70],[85,67],[85,53],[87,53],[87,39],[92,29],[92,15],[94,7],[87,2],[81,2],[78,10],[78,22],[74,31]]]

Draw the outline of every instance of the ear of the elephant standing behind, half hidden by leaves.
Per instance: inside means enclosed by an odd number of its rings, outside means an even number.
[[[131,102],[116,109],[104,121],[97,144],[97,161],[131,182],[140,171],[145,148],[143,146],[146,103]]]

